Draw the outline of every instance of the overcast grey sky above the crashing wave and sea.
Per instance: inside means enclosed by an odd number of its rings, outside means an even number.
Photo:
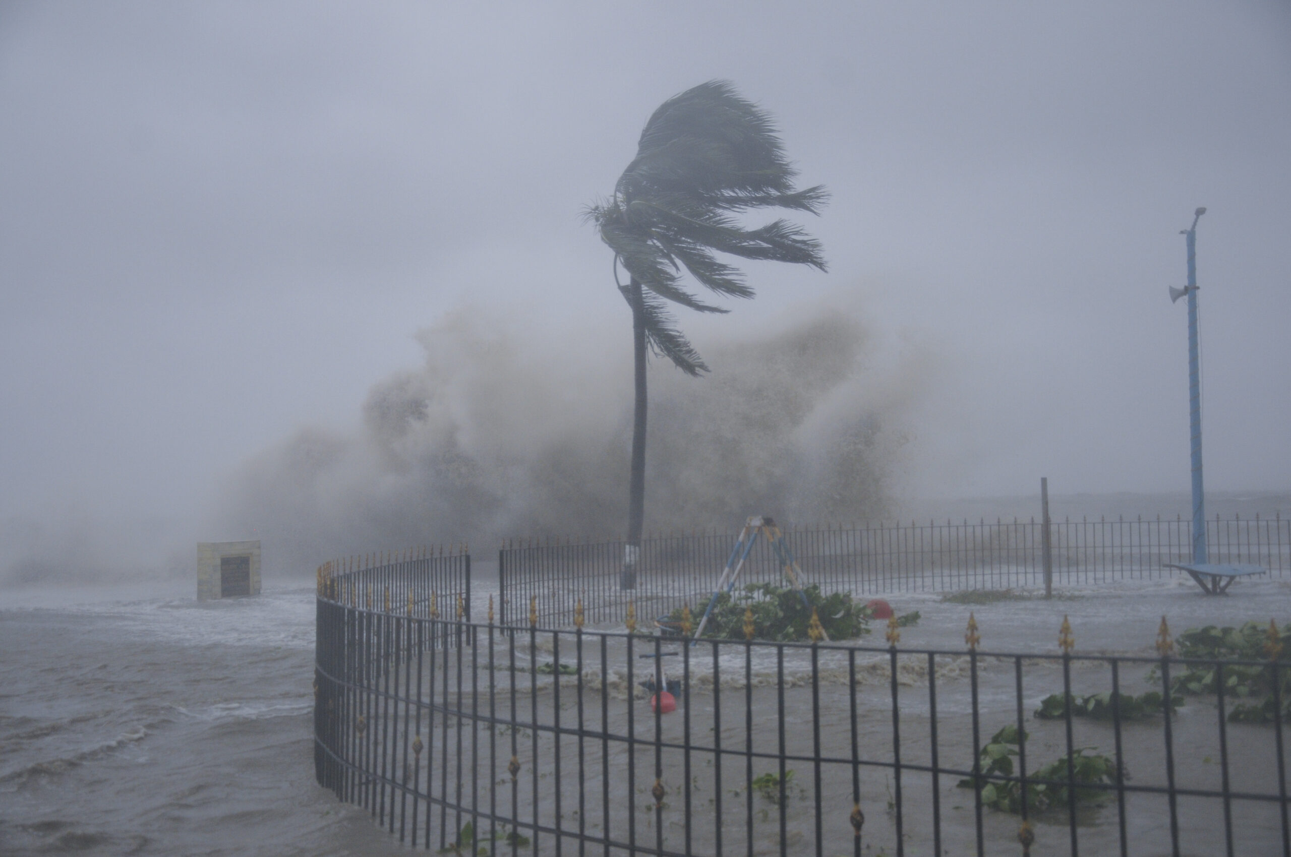
[[[701,350],[860,296],[936,367],[908,493],[1185,490],[1207,205],[1207,487],[1291,487],[1286,4],[447,5],[0,5],[0,516],[200,520],[462,305],[626,354],[580,212],[713,77],[833,192],[831,270],[754,266]]]

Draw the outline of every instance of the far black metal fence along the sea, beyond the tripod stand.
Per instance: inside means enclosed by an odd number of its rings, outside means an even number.
[[[1192,559],[1190,521],[1118,518],[1048,525],[1053,580],[1090,585],[1154,580],[1179,572],[1166,563]],[[1044,524],[1035,520],[861,527],[803,527],[785,538],[808,582],[855,594],[953,591],[1043,586]],[[1291,520],[1207,521],[1215,563],[1255,563],[1291,572]],[[627,600],[649,614],[667,613],[711,594],[735,534],[660,536],[643,539],[636,586],[621,590],[624,543],[565,539],[513,541],[498,551],[500,623],[524,626],[533,604],[544,625],[569,626],[581,600],[589,622],[621,618]],[[777,582],[781,572],[766,545],[749,558],[744,582]]]

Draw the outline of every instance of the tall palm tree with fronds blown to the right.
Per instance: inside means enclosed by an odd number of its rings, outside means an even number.
[[[795,176],[771,116],[729,83],[711,80],[655,111],[613,197],[587,210],[615,252],[615,283],[633,311],[636,400],[624,589],[635,586],[646,516],[647,347],[689,376],[709,370],[667,303],[697,312],[728,311],[688,292],[686,274],[715,294],[751,298],[742,272],[718,254],[825,270],[820,243],[802,227],[776,219],[749,228],[740,219],[757,208],[818,213],[825,188],[794,190]],[[620,268],[627,274],[626,284]]]

